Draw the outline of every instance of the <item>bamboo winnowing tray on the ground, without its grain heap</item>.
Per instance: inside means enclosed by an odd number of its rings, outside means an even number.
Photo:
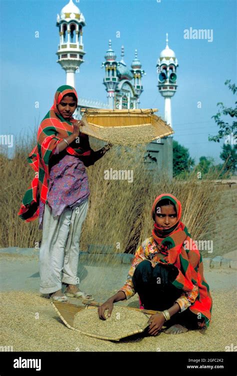
[[[78,306],[78,305],[75,305],[75,304],[59,302],[59,301],[53,301],[53,302],[51,302],[51,304],[52,304],[53,308],[55,309],[56,313],[58,314],[58,316],[61,318],[61,320],[64,322],[64,324],[69,329],[76,330],[81,334],[88,335],[88,336],[94,337],[94,338],[106,339],[106,340],[119,340],[121,338],[128,337],[132,334],[141,333],[147,327],[147,324],[146,324],[141,329],[138,329],[138,330],[135,330],[135,331],[132,331],[132,332],[129,332],[129,333],[124,333],[124,335],[122,335],[122,336],[116,336],[116,334],[114,333],[114,337],[106,337],[106,336],[99,336],[99,335],[96,335],[96,334],[86,333],[84,331],[81,331],[78,328],[73,327],[74,316],[77,312],[79,312],[82,309],[97,309],[97,308],[95,308],[94,306],[88,306],[87,308],[84,308],[82,306]],[[132,307],[127,307],[127,309],[140,310],[141,313],[143,313],[142,309],[132,308]],[[150,312],[156,313],[157,311],[150,311]]]

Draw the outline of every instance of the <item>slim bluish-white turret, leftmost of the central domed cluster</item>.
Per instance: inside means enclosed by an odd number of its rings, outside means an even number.
[[[104,56],[105,61],[102,63],[101,68],[105,67],[105,77],[103,84],[107,91],[108,107],[114,108],[114,92],[117,86],[117,61],[114,50],[111,48],[111,39],[108,41],[108,50]]]

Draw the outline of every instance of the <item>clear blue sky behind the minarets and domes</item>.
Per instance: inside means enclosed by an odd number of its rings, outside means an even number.
[[[235,0],[73,0],[85,17],[86,54],[76,73],[79,96],[106,102],[101,62],[112,40],[120,60],[131,64],[134,49],[146,75],[140,107],[159,109],[164,99],[157,90],[156,60],[165,47],[178,59],[177,91],[171,99],[174,139],[198,161],[201,155],[220,159],[220,144],[208,142],[218,128],[211,116],[216,103],[232,106],[234,96],[224,85],[236,83]],[[23,134],[38,125],[53,102],[65,72],[56,63],[59,42],[56,14],[68,0],[0,0],[0,133]],[[184,39],[184,29],[212,29],[213,41]],[[39,38],[34,37],[39,31]],[[120,38],[116,38],[120,31]],[[39,101],[39,108],[34,102]],[[197,102],[201,101],[201,108]],[[226,118],[227,120],[228,118]],[[229,119],[228,119],[229,120]]]

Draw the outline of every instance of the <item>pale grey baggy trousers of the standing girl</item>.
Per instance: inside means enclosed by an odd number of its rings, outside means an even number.
[[[39,249],[39,292],[61,289],[62,282],[77,284],[79,241],[88,210],[88,198],[74,209],[55,217],[44,207],[42,242]]]

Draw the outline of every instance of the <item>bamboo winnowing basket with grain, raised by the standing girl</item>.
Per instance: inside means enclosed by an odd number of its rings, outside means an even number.
[[[85,125],[80,130],[112,144],[144,144],[174,133],[170,125],[154,115],[157,108],[82,108],[81,112],[84,112],[82,121]]]

